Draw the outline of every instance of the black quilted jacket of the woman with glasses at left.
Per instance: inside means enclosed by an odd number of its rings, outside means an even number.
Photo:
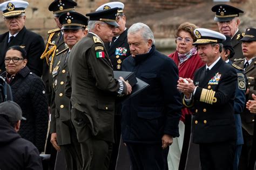
[[[6,80],[6,72],[2,74]],[[22,109],[26,121],[21,122],[19,134],[44,151],[48,129],[48,103],[44,83],[40,77],[30,72],[28,67],[21,69],[9,82],[14,102]]]

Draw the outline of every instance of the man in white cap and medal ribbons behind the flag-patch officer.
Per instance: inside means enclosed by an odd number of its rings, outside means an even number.
[[[127,42],[127,29],[125,27],[126,17],[124,15],[124,4],[122,2],[109,2],[97,8],[96,11],[118,8],[117,23],[119,27],[113,31],[114,36],[111,42],[106,42],[104,45],[107,49],[107,54],[113,65],[113,70],[121,70],[122,62],[127,56],[130,56],[129,44]]]

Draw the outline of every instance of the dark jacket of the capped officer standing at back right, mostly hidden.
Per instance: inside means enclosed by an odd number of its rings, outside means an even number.
[[[242,33],[240,30],[238,30],[238,32],[232,38],[232,46],[235,52],[234,56],[230,58],[232,62],[234,62],[234,59],[244,58],[244,55],[242,54],[242,41],[238,41],[238,39],[240,39],[241,36]]]

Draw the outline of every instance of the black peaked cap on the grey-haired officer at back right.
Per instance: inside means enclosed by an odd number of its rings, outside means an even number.
[[[216,12],[214,20],[217,22],[227,22],[234,17],[239,17],[239,13],[244,13],[244,11],[235,8],[234,6],[226,4],[214,5],[212,7],[212,12]]]

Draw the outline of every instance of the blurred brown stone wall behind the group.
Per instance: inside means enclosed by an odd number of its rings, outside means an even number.
[[[98,6],[112,2],[113,0],[75,0],[78,4],[76,11],[89,13]],[[0,3],[4,0],[0,0]],[[56,23],[48,6],[52,0],[28,0],[29,7],[26,9],[27,29],[35,31],[46,40],[47,32],[55,29]],[[142,22],[149,25],[154,32],[156,44],[162,48],[175,46],[173,40],[174,31],[184,22],[191,22],[199,27],[218,30],[213,21],[214,13],[211,8],[213,0],[120,0],[125,4],[127,27],[133,23]],[[241,29],[256,27],[256,2],[255,0],[231,0],[227,3],[245,11],[241,15]],[[1,12],[0,12],[1,13]],[[0,14],[1,15],[1,14]],[[0,33],[6,32],[4,19],[0,17]]]

